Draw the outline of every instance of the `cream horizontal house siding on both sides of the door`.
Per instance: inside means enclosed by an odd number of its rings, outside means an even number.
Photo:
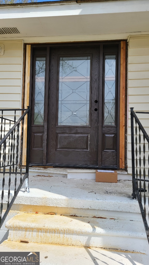
[[[2,41],[2,43],[4,55],[0,56],[0,108],[21,108],[23,41]],[[149,36],[130,36],[128,41],[127,158],[129,174],[132,173],[130,107],[134,107],[134,111],[149,110]],[[137,116],[149,134],[149,114],[137,114]],[[7,118],[12,118],[11,113],[8,113]],[[8,129],[7,123],[6,132]],[[143,150],[143,138],[141,138],[141,147]],[[147,145],[146,147],[148,148]],[[147,163],[146,161],[146,166]]]

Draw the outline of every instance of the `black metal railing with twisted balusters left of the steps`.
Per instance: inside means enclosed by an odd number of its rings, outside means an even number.
[[[24,181],[29,192],[30,107],[0,109],[0,228],[4,223]],[[22,114],[20,117],[20,113]],[[22,171],[24,118],[27,116],[26,166]],[[20,117],[20,118],[19,118]],[[17,120],[18,118],[18,120]],[[6,131],[8,131],[6,133]],[[1,178],[2,176],[2,178]],[[5,209],[4,209],[5,208]]]

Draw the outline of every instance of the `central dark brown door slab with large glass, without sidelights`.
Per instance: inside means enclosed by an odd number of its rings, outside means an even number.
[[[98,165],[99,48],[51,49],[47,163]]]

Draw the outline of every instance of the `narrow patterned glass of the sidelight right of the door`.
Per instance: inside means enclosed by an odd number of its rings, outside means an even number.
[[[116,55],[105,56],[104,125],[115,125]]]

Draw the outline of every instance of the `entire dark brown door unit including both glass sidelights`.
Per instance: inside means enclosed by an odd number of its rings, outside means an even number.
[[[118,51],[33,47],[30,164],[118,166]]]

